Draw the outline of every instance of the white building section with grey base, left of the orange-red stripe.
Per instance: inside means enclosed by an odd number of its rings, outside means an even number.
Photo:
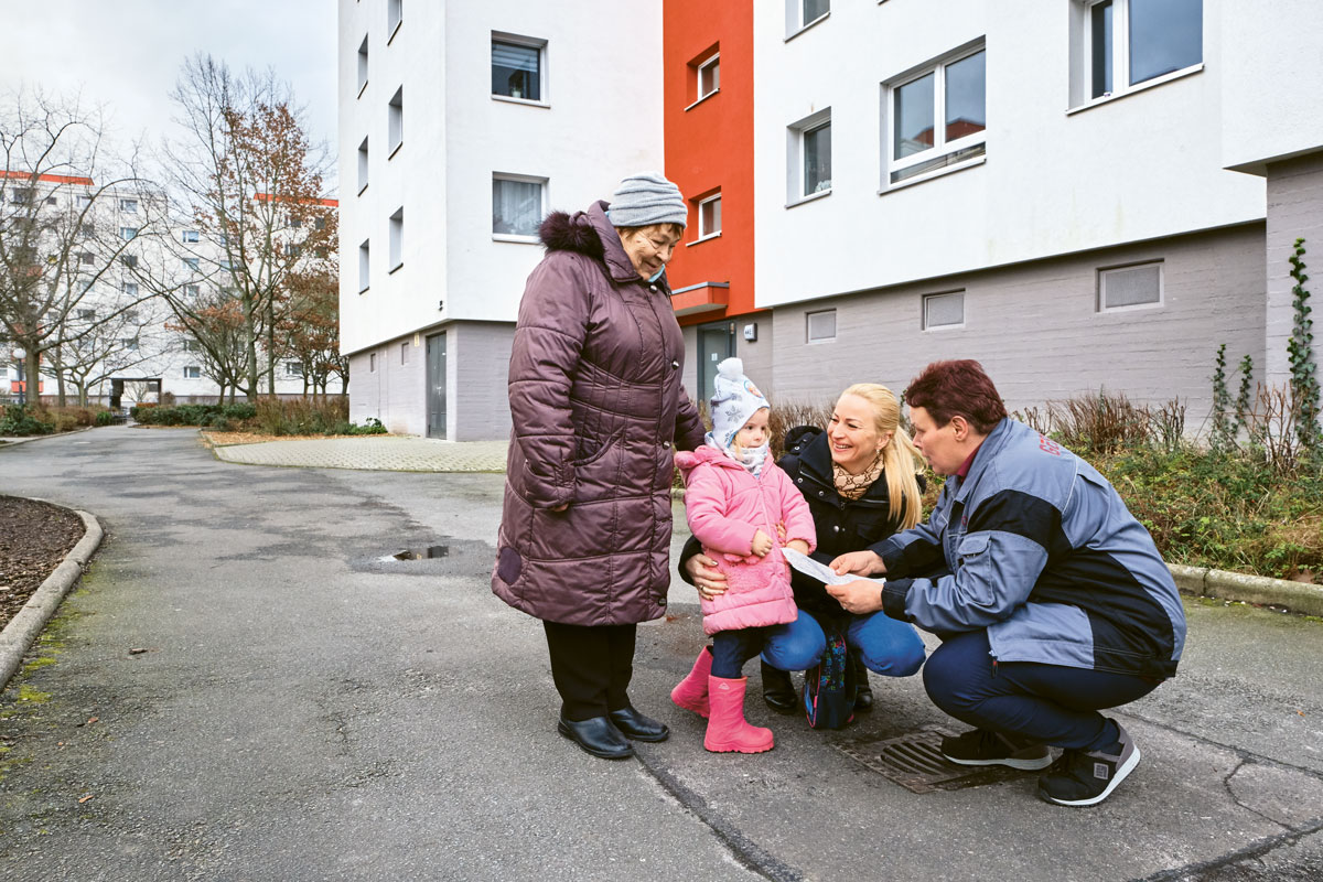
[[[509,431],[537,225],[660,168],[658,3],[340,0],[340,346],[349,415]]]

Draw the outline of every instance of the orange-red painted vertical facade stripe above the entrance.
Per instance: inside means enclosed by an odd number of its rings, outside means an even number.
[[[751,312],[753,238],[753,3],[664,0],[663,97],[665,175],[689,202],[684,241],[667,268],[683,325]],[[699,99],[699,65],[720,53],[718,91]],[[692,106],[691,106],[692,104]],[[721,193],[721,235],[699,238],[697,205]],[[725,304],[725,305],[721,305]],[[717,308],[691,312],[695,307]]]

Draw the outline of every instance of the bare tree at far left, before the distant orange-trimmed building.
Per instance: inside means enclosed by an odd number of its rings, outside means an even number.
[[[98,291],[127,291],[122,279],[163,230],[164,198],[134,171],[134,157],[114,159],[105,141],[99,111],[78,98],[20,87],[0,99],[0,335],[26,350],[29,383],[49,368],[60,403],[60,353],[149,292],[71,319]]]

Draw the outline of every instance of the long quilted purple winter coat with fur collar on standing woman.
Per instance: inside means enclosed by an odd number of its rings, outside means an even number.
[[[703,443],[669,290],[639,278],[606,208],[556,212],[540,230],[548,253],[528,276],[509,360],[492,573],[516,610],[578,625],[663,615],[673,454]]]

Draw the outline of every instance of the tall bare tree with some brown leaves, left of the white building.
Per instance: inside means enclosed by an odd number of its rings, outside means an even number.
[[[274,394],[288,276],[303,251],[327,237],[318,223],[327,151],[310,143],[290,86],[271,71],[239,77],[198,54],[184,62],[172,98],[189,135],[165,147],[163,164],[187,223],[198,231],[183,257],[234,298],[245,391],[255,397],[265,377]],[[187,305],[177,291],[161,288],[172,308]]]

